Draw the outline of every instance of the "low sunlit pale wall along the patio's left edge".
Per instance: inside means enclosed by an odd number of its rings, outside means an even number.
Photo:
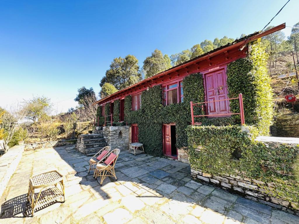
[[[0,197],[22,158],[24,145],[15,145],[0,157]]]

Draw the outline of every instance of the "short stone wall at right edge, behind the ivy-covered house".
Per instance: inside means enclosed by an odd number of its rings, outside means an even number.
[[[299,113],[274,117],[270,130],[272,136],[299,137]]]

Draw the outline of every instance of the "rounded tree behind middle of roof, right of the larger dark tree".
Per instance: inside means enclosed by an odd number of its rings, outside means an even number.
[[[145,78],[158,74],[171,67],[170,58],[167,54],[163,55],[161,50],[154,50],[143,62]]]

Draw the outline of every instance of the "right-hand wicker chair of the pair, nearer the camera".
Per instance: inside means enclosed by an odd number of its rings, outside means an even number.
[[[100,185],[102,186],[103,184],[103,181],[106,177],[115,177],[115,179],[117,180],[116,178],[116,175],[115,175],[115,170],[114,170],[114,166],[115,166],[115,163],[116,163],[116,160],[118,158],[118,155],[120,153],[120,149],[116,148],[112,151],[109,152],[108,155],[106,155],[105,157],[108,158],[111,154],[114,154],[116,157],[111,161],[111,163],[107,162],[108,165],[103,162],[103,163],[98,163],[96,165],[96,168],[95,168],[95,179],[97,179],[97,177],[101,177],[101,182],[100,182]]]

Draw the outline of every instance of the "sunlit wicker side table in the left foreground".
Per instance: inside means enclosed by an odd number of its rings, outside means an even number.
[[[59,184],[59,185],[58,185]],[[60,186],[60,187],[58,187]],[[35,193],[37,189],[37,193]],[[56,170],[38,174],[30,178],[28,202],[31,205],[32,216],[36,208],[63,198],[65,201],[63,176]]]

